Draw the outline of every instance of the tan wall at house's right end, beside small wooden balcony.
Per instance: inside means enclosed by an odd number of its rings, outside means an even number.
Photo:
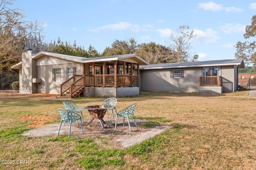
[[[223,92],[233,92],[236,89],[234,65],[221,66]]]

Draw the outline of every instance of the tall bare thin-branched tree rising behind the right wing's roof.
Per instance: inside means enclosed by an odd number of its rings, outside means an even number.
[[[179,30],[172,32],[169,42],[170,48],[175,54],[173,62],[188,62],[195,61],[198,56],[191,56],[189,50],[191,49],[191,44],[193,39],[196,37],[194,30],[190,29],[187,25],[182,25],[179,27]]]

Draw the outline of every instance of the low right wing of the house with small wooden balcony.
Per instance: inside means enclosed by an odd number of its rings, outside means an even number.
[[[206,94],[234,92],[242,59],[150,64],[140,66],[141,90]]]

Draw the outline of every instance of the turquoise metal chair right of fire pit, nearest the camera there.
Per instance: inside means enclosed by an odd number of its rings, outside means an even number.
[[[131,132],[131,125],[130,125],[130,122],[129,122],[129,117],[132,117],[132,118],[133,118],[133,121],[134,121],[134,123],[135,123],[135,126],[136,126],[136,128],[138,128],[137,123],[136,123],[136,120],[135,120],[135,116],[134,116],[134,111],[135,111],[136,105],[137,105],[137,104],[133,104],[133,105],[130,105],[130,106],[128,106],[128,107],[125,107],[125,108],[123,108],[121,111],[119,111],[119,112],[116,114],[116,124],[117,124],[118,116],[119,116],[119,117],[123,117],[123,118],[125,118],[125,117],[127,118],[130,132]],[[116,124],[115,124],[115,130],[116,130]],[[123,119],[123,126],[124,126],[124,119]]]

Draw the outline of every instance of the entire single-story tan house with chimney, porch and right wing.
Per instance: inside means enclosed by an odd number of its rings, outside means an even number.
[[[133,96],[139,91],[219,93],[237,90],[243,60],[148,64],[135,54],[84,58],[30,50],[19,69],[20,93]]]

